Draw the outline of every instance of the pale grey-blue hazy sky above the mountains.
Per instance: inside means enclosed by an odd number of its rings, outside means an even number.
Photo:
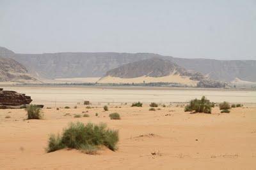
[[[0,0],[0,46],[256,59],[256,0]]]

